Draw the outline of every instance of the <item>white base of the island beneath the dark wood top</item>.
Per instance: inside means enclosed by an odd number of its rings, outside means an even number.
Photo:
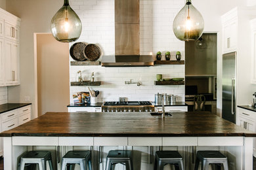
[[[17,169],[22,153],[49,150],[55,169],[60,169],[62,156],[69,150],[91,150],[93,169],[104,170],[109,150],[133,150],[135,170],[154,169],[158,150],[178,150],[187,170],[194,169],[196,151],[219,150],[228,157],[229,169],[253,169],[252,137],[3,137],[4,168]],[[47,165],[47,169],[49,169]],[[79,169],[79,165],[75,166]],[[124,170],[116,165],[115,170]],[[166,169],[173,169],[170,165]]]

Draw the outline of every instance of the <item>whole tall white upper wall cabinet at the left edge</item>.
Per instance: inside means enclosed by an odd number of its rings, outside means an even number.
[[[20,18],[0,9],[0,86],[20,84]]]

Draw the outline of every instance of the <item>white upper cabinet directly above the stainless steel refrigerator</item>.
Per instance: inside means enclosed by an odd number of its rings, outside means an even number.
[[[221,19],[223,23],[223,54],[235,52],[238,41],[238,10],[230,10]]]

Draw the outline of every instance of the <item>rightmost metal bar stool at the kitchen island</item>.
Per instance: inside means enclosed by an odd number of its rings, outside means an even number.
[[[195,170],[198,170],[200,161],[202,162],[202,170],[209,169],[209,164],[215,164],[216,169],[221,169],[221,164],[223,164],[224,170],[228,170],[228,158],[219,151],[198,151],[196,153]]]

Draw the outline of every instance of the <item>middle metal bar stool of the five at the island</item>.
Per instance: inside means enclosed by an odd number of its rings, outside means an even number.
[[[110,150],[106,158],[106,170],[112,170],[112,165],[117,163],[125,165],[126,170],[133,170],[131,150]]]

